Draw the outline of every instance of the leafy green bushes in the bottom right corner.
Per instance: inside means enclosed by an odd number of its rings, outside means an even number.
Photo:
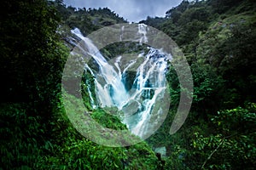
[[[255,104],[218,111],[212,116],[212,133],[194,133],[192,156],[207,169],[253,169],[256,165]],[[201,150],[201,151],[197,151]]]

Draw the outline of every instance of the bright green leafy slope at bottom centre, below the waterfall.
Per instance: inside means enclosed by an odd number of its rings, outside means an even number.
[[[116,113],[116,109],[106,108],[92,111],[90,115],[104,127],[125,129]],[[62,107],[55,114],[55,120],[57,122],[51,122],[55,150],[39,160],[39,169],[155,169],[159,164],[145,143],[112,148],[84,139],[71,125]]]

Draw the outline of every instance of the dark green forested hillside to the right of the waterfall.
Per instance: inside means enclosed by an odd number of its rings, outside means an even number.
[[[171,66],[171,109],[148,143],[166,146],[166,169],[253,169],[255,3],[183,1],[166,14],[156,26],[183,48],[193,75],[193,105],[183,127],[169,135],[183,90]]]

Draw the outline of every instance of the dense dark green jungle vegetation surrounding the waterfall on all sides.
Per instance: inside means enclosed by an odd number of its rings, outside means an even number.
[[[171,67],[166,121],[145,142],[111,148],[85,139],[69,122],[61,76],[72,48],[70,29],[86,36],[125,22],[108,8],[67,7],[62,0],[2,2],[0,169],[254,169],[254,0],[183,0],[165,18],[140,22],[183,49],[193,75],[193,104],[183,127],[171,135],[181,90]],[[113,47],[105,53],[118,53]],[[106,111],[92,112],[107,127],[125,128]],[[157,147],[166,147],[166,156],[154,153]]]

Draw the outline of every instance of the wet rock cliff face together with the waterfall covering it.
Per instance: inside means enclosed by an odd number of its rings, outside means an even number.
[[[84,65],[86,74],[90,74],[94,80],[90,82],[93,84],[85,80],[88,92],[85,94],[89,95],[90,104],[95,104],[92,108],[117,107],[124,112],[121,121],[132,133],[143,139],[154,133],[165,119],[166,114],[163,111],[166,111],[166,105],[161,105],[160,102],[167,96],[166,71],[172,58],[160,49],[143,48],[142,43],[148,42],[149,29],[146,25],[129,26],[129,33],[133,31],[135,34],[135,39],[130,36],[131,41],[137,42],[134,48],[142,47],[141,54],[133,52],[108,59],[89,38],[90,35],[84,37],[77,28],[72,31],[74,35],[68,37],[67,42],[70,47],[75,45],[71,52],[71,55],[77,58],[74,62],[79,60],[80,65]],[[124,30],[125,28],[121,32],[125,37]],[[123,42],[123,49],[119,52],[131,50],[130,45],[131,42]],[[112,56],[117,52],[115,48],[120,46],[108,48],[113,52]],[[108,49],[104,50],[107,54]]]

